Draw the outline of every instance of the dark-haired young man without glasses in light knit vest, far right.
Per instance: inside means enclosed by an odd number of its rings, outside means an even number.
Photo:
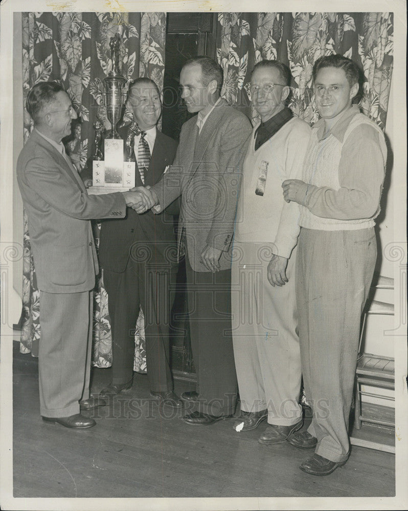
[[[387,157],[380,128],[352,105],[358,77],[358,67],[341,55],[315,62],[322,119],[312,129],[303,180],[282,185],[285,200],[301,205],[296,293],[303,380],[313,408],[307,431],[288,442],[315,449],[300,468],[320,476],[349,455],[360,319],[376,262],[374,218]]]

